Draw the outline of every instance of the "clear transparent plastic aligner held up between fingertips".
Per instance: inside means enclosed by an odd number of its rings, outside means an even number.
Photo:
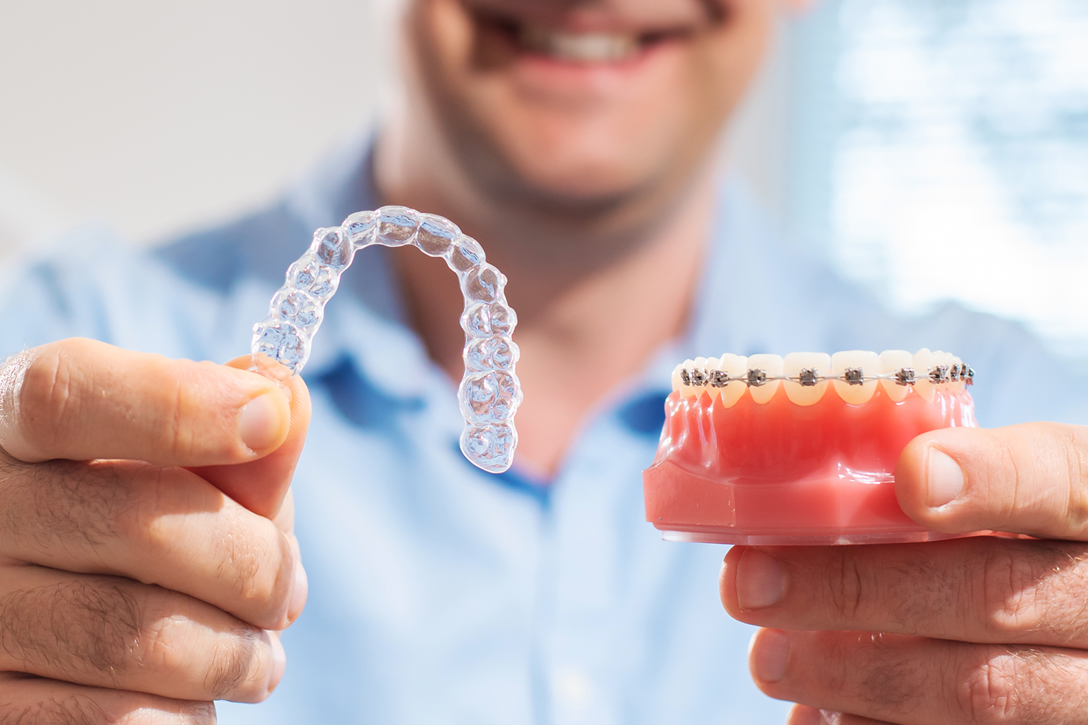
[[[358,250],[372,245],[411,245],[446,260],[457,273],[465,296],[465,376],[457,392],[465,416],[461,452],[484,471],[506,471],[518,446],[514,414],[521,404],[515,374],[519,351],[510,337],[518,316],[506,303],[506,276],[487,264],[475,239],[449,220],[407,207],[382,207],[314,232],[310,249],[287,267],[268,316],[254,325],[252,354],[268,355],[297,375],[310,358],[310,343],[341,275]]]

